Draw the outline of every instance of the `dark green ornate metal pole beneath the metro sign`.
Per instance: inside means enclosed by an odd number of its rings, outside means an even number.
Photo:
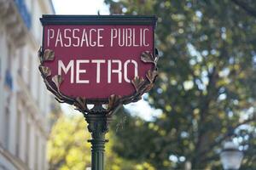
[[[108,142],[105,139],[105,134],[108,132],[111,117],[99,105],[96,105],[95,108],[94,113],[84,115],[91,133],[91,139],[88,140],[91,144],[91,169],[104,170],[105,143]]]

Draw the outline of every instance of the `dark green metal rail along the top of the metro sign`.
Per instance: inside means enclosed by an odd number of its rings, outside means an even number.
[[[53,25],[126,25],[156,26],[155,15],[55,15],[43,14],[43,26]]]

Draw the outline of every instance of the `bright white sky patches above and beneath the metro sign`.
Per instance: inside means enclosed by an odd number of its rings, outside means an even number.
[[[53,0],[56,14],[109,14],[108,6],[104,0]],[[136,103],[125,105],[125,109],[133,116],[140,116],[146,121],[153,121],[154,116],[160,116],[160,110],[154,110],[145,100],[148,94],[143,95],[143,99]],[[61,109],[66,114],[71,114],[73,108],[67,104],[61,104]]]

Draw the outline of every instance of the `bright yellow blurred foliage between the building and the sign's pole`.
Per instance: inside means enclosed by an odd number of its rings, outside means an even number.
[[[59,117],[48,142],[49,170],[90,167],[90,133],[82,116]]]

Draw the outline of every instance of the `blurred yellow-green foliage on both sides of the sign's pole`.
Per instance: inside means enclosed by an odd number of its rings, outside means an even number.
[[[49,170],[84,170],[90,167],[90,133],[82,115],[59,115],[48,141]],[[148,162],[130,161],[113,152],[113,133],[108,133],[106,170],[154,170]]]

